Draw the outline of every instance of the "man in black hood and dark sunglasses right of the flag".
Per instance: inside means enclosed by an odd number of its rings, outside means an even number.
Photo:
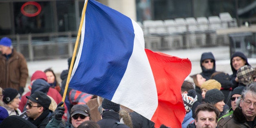
[[[210,79],[212,73],[216,72],[215,58],[211,52],[203,53],[201,55],[200,66],[202,72],[200,73],[206,80]]]

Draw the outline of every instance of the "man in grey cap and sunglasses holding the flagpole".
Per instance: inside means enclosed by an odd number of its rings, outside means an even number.
[[[53,119],[47,124],[46,128],[61,128],[62,116],[64,114],[65,108],[62,107],[63,102],[58,104]],[[69,126],[66,128],[77,128],[84,121],[90,119],[90,109],[86,104],[76,104],[71,108],[71,113],[69,117]]]

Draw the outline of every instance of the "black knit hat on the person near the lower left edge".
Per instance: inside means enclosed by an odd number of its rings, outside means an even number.
[[[8,104],[9,102],[11,102],[15,97],[17,97],[19,95],[18,90],[13,89],[13,88],[5,88],[3,91],[3,102],[5,104]]]

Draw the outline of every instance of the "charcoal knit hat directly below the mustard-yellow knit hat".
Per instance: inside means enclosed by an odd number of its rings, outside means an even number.
[[[211,89],[205,93],[205,102],[216,104],[224,100],[224,94],[218,89]]]

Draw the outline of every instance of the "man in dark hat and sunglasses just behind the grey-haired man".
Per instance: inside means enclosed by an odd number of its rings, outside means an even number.
[[[237,100],[241,97],[241,93],[243,92],[243,89],[245,87],[244,86],[241,86],[241,87],[237,87],[235,88],[232,93],[231,93],[231,97],[230,97],[230,101],[231,101],[231,108],[229,110],[229,113],[226,114],[226,115],[223,115],[221,118],[224,118],[224,117],[227,117],[231,114],[233,114],[234,110],[236,109],[236,103],[237,103]],[[220,118],[220,119],[221,119]],[[220,120],[218,119],[218,120]]]

